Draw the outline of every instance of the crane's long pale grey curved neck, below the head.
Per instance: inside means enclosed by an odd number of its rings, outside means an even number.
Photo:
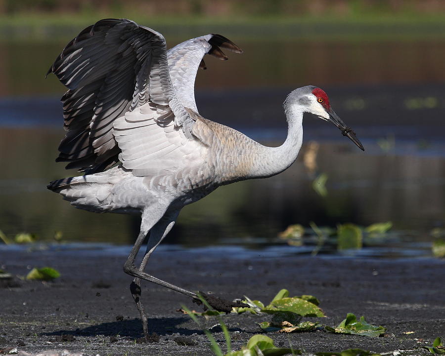
[[[284,103],[288,129],[286,141],[278,147],[259,145],[251,178],[266,178],[287,169],[297,159],[303,142],[303,107]]]

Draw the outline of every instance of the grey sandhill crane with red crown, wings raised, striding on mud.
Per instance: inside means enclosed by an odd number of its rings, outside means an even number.
[[[85,172],[53,181],[48,189],[80,209],[141,215],[124,271],[134,277],[130,289],[145,338],[141,279],[197,299],[196,293],[144,272],[183,206],[219,186],[288,168],[302,145],[304,113],[332,122],[363,150],[331,109],[326,93],[311,85],[295,89],[284,101],[288,135],[279,147],[263,146],[204,119],[196,108],[195,76],[199,67],[205,68],[206,53],[227,59],[220,47],[242,52],[220,35],[186,40],[167,51],[160,33],[130,20],[104,19],[71,40],[48,71],[69,89],[62,97],[67,132],[57,161]],[[136,267],[147,236],[145,255]],[[218,310],[240,305],[207,298]]]

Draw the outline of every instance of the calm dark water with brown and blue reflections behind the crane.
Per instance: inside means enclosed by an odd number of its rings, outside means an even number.
[[[44,79],[63,42],[0,43],[0,229],[9,237],[27,231],[51,240],[61,231],[68,241],[131,244],[136,217],[77,210],[45,189],[53,179],[76,175],[54,162],[63,136],[57,99],[63,88]],[[287,171],[221,187],[185,207],[166,243],[311,253],[311,241],[287,246],[277,233],[311,221],[392,221],[396,235],[359,254],[429,255],[429,232],[445,221],[445,42],[282,40],[242,47],[246,54],[231,54],[227,62],[206,59],[209,70],[197,82],[202,115],[278,145],[286,134],[285,95],[317,84],[366,151],[334,126],[305,118],[304,146]],[[324,198],[312,189],[320,173],[328,175]]]

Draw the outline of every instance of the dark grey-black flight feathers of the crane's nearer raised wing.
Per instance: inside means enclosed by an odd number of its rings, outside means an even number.
[[[57,161],[89,173],[118,161],[113,121],[145,102],[153,52],[165,51],[162,35],[119,19],[100,20],[67,44],[48,71],[69,89]]]

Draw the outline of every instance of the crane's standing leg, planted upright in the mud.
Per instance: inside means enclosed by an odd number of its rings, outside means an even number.
[[[145,266],[147,265],[150,255],[155,250],[155,248],[161,243],[164,237],[172,230],[173,225],[178,217],[179,210],[173,212],[166,212],[164,216],[153,226],[153,228],[148,233],[148,242],[145,255],[139,265],[139,272],[143,272]],[[141,288],[140,288],[140,278],[136,277],[130,284],[130,291],[132,293],[134,302],[136,303],[137,310],[139,311],[140,319],[142,321],[142,329],[144,331],[145,342],[148,342],[148,320],[147,315],[144,311],[142,301],[140,299]]]

